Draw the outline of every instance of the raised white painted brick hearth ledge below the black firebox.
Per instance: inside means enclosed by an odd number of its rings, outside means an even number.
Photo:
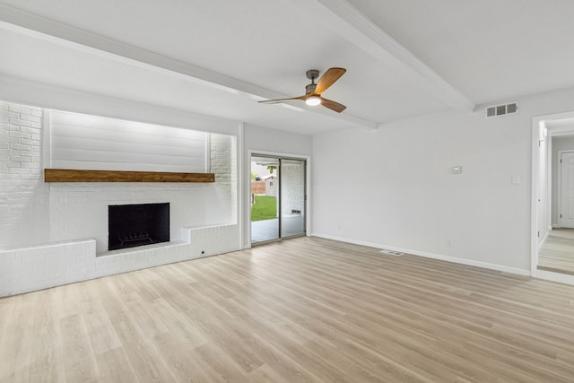
[[[185,242],[127,248],[102,257],[96,256],[94,239],[0,251],[0,297],[237,249],[237,224],[186,231]]]

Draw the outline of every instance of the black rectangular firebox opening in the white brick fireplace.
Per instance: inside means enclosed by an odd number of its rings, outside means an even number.
[[[108,249],[170,241],[170,204],[109,205]]]

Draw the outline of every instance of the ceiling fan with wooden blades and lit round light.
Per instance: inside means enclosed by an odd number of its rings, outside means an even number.
[[[317,69],[310,69],[307,71],[307,78],[311,80],[311,83],[305,87],[305,94],[299,97],[291,97],[290,99],[277,99],[277,100],[263,100],[259,102],[268,102],[268,103],[278,103],[278,102],[286,102],[292,100],[303,100],[309,106],[315,105],[323,105],[324,107],[334,110],[337,113],[341,113],[345,107],[343,104],[338,102],[327,100],[321,94],[326,91],[331,85],[335,83],[335,81],[339,80],[339,78],[346,72],[347,70],[344,68],[329,68],[321,76],[319,81],[315,83],[315,79],[319,76],[319,71]]]

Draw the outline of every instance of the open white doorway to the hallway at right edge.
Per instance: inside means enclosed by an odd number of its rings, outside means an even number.
[[[574,284],[574,112],[533,118],[532,276]]]

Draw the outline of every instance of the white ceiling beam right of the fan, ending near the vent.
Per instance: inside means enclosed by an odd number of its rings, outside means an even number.
[[[404,78],[422,86],[429,94],[451,108],[465,112],[474,110],[473,101],[447,83],[347,0],[290,1],[311,14],[317,22],[326,25],[396,73],[403,74]]]

